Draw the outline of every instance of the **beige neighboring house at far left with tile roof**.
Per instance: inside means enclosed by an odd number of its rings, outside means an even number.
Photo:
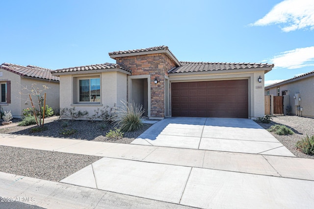
[[[53,76],[50,69],[36,66],[21,66],[10,63],[0,65],[0,106],[3,111],[11,110],[13,117],[23,117],[23,110],[31,107],[30,102],[25,104],[29,98],[29,92],[22,90],[24,87],[30,89],[31,85],[36,83],[39,89],[43,85],[49,87],[45,92],[46,104],[53,110],[59,112],[59,77]],[[23,94],[21,94],[23,93]],[[37,100],[34,96],[33,100]]]

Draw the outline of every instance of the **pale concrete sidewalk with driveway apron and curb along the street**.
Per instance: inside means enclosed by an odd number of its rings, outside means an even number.
[[[0,173],[4,188],[0,196],[32,195],[39,201],[30,204],[41,207],[64,203],[65,208],[309,208],[314,204],[310,159],[14,135],[0,135],[0,145],[104,157],[60,183],[25,177],[23,186],[16,180],[22,177]],[[104,205],[95,206],[97,202]]]

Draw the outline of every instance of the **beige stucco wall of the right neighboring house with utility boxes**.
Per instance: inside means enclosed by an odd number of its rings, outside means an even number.
[[[295,93],[300,93],[301,107],[303,107],[302,116],[314,117],[314,76],[282,84],[279,87],[280,95],[282,95],[282,91],[288,91],[287,92],[287,95],[289,95],[288,105],[292,106],[291,115],[295,115],[293,96]],[[277,95],[276,94],[277,88],[278,86],[271,88],[269,91],[270,94]]]

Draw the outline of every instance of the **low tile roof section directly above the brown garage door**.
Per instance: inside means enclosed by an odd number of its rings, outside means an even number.
[[[214,62],[180,62],[181,66],[169,70],[169,73],[202,72],[215,70],[240,70],[273,68],[273,64],[267,63],[214,63]]]

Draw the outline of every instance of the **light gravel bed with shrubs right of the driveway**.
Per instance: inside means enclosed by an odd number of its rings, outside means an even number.
[[[299,116],[275,116],[280,120],[284,120],[286,122],[292,122],[297,125],[296,127],[288,127],[292,129],[294,132],[293,135],[288,136],[279,136],[270,132],[276,139],[278,139],[285,147],[288,148],[290,152],[292,152],[298,158],[310,158],[314,159],[314,155],[307,155],[303,152],[297,150],[295,144],[298,140],[306,137],[306,135],[312,136],[314,135],[314,118],[309,117],[299,117]],[[259,125],[261,125],[264,129],[268,129],[270,126],[275,124],[281,124],[274,122],[273,120],[270,123],[260,123],[256,121]]]

